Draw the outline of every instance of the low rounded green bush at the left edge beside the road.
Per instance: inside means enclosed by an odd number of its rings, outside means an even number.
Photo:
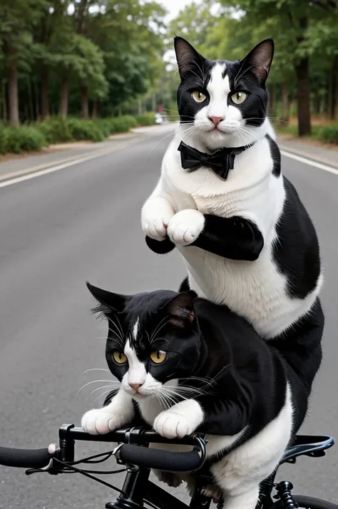
[[[31,126],[0,127],[0,153],[19,154],[23,151],[41,150],[48,142],[43,133]]]

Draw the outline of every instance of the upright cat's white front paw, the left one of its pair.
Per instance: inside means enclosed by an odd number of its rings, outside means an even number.
[[[173,207],[164,198],[153,198],[145,202],[141,214],[143,232],[151,239],[164,240],[174,214]]]

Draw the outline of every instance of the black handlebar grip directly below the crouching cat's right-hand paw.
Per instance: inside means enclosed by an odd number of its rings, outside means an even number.
[[[177,453],[126,443],[121,446],[119,455],[123,463],[170,472],[191,472],[203,465],[203,456],[196,450]]]

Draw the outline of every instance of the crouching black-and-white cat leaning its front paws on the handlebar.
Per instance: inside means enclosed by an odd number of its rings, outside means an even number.
[[[208,433],[207,463],[225,508],[255,509],[260,482],[307,411],[297,374],[226,307],[187,293],[88,288],[99,302],[95,311],[108,319],[106,360],[121,389],[84,414],[83,428],[103,434],[141,418],[166,438]],[[171,485],[181,480],[158,475]],[[193,490],[193,478],[184,478]]]

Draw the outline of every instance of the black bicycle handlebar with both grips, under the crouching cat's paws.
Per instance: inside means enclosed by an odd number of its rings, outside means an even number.
[[[198,470],[205,461],[205,441],[197,434],[182,439],[168,440],[143,428],[126,428],[113,431],[106,435],[89,435],[83,428],[76,428],[73,424],[63,424],[59,431],[60,448],[55,452],[43,449],[17,449],[0,447],[0,465],[18,468],[46,468],[53,469],[51,460],[57,458],[71,463],[74,456],[75,441],[118,442],[116,457],[122,463],[140,466],[141,468],[158,468],[160,470],[187,472]],[[193,451],[180,453],[163,451],[155,448],[140,447],[149,443],[179,443],[193,446]],[[50,446],[51,447],[51,446]],[[50,451],[54,450],[49,448]],[[60,467],[58,466],[58,469]]]

